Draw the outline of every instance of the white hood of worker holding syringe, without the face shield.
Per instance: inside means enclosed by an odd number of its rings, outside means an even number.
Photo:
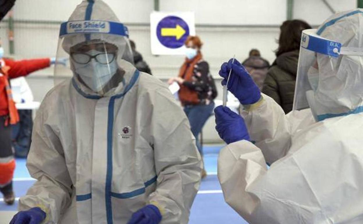
[[[321,37],[340,42],[343,47],[363,48],[363,11],[338,13],[317,30]],[[316,113],[322,120],[363,109],[363,57],[317,54],[319,86],[315,93]]]

